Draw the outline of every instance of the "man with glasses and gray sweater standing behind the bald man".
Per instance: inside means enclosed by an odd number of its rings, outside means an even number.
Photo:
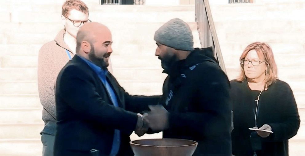
[[[64,25],[53,41],[42,46],[38,55],[38,91],[43,106],[41,131],[43,156],[53,155],[56,131],[55,82],[61,68],[75,55],[76,34],[88,19],[89,10],[80,0],[68,0],[62,6],[61,21]],[[109,61],[110,62],[110,61]],[[111,70],[111,64],[109,65]]]

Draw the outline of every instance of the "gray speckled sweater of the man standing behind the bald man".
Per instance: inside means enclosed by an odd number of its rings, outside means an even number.
[[[71,57],[74,54],[64,42],[65,30],[61,30],[55,40],[42,46],[38,54],[38,91],[40,102],[43,106],[42,120],[45,127],[41,133],[55,135],[56,112],[55,112],[55,83],[62,67],[69,61],[66,49]]]

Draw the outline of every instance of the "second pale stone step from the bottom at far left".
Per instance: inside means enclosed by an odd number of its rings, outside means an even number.
[[[42,121],[27,124],[0,124],[0,126],[1,139],[40,139],[44,123]]]

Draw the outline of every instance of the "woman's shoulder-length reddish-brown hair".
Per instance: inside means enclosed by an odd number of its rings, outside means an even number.
[[[273,82],[276,81],[277,78],[277,67],[275,64],[274,56],[271,47],[267,43],[261,43],[261,42],[254,42],[252,44],[249,44],[244,52],[240,56],[240,62],[242,59],[245,59],[248,52],[251,50],[255,50],[257,52],[257,55],[263,56],[265,64],[267,65],[266,70],[266,86],[270,86]],[[237,78],[237,81],[244,81],[246,78],[245,71],[244,71],[244,65],[240,63],[241,67],[241,73],[239,78]]]

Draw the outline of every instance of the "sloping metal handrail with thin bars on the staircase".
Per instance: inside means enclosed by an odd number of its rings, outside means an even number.
[[[201,46],[212,47],[215,59],[221,69],[227,73],[208,0],[195,1],[195,20]]]

